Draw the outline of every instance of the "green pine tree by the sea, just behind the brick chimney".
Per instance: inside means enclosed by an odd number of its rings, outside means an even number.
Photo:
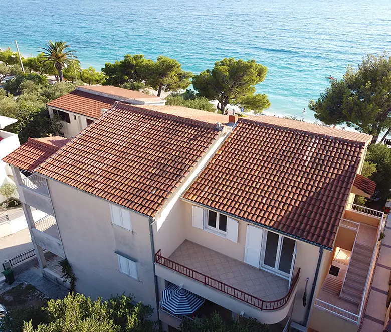
[[[267,68],[255,60],[224,58],[216,61],[212,70],[207,69],[192,79],[199,95],[219,101],[218,110],[226,114],[228,104],[262,112],[270,107],[266,94],[255,94],[255,85],[263,82]]]

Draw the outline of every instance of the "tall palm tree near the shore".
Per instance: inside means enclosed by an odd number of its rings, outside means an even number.
[[[45,47],[41,47],[44,50],[42,55],[42,67],[44,69],[50,69],[50,67],[54,67],[58,71],[58,77],[60,82],[64,80],[63,69],[64,66],[71,66],[72,61],[76,63],[80,63],[76,56],[73,55],[75,50],[67,50],[69,45],[67,42],[52,42],[51,40]],[[73,59],[71,57],[73,56]]]

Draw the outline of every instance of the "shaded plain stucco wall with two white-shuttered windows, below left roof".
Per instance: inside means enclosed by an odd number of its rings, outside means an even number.
[[[48,186],[76,290],[93,298],[132,293],[136,301],[152,305],[157,319],[148,218],[130,211],[132,233],[111,223],[103,199],[54,180]],[[115,251],[137,260],[139,281],[118,271]]]

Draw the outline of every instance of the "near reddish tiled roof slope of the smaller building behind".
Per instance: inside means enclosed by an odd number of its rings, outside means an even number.
[[[110,108],[113,106],[114,102],[116,102],[116,100],[113,98],[74,90],[71,93],[51,101],[47,105],[97,119],[101,116],[101,109]]]

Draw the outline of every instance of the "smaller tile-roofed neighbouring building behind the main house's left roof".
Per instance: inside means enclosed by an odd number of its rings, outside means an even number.
[[[137,105],[165,104],[163,98],[138,91],[109,85],[86,85],[51,101],[47,107],[50,117],[57,114],[61,118],[60,135],[73,138],[119,100]]]

